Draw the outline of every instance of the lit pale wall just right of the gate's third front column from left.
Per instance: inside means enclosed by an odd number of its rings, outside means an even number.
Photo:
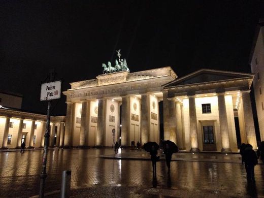
[[[113,145],[112,129],[115,129],[115,141],[119,141],[119,134],[117,133],[117,120],[118,120],[118,102],[115,100],[107,100],[106,102],[106,145]],[[112,106],[112,108],[111,108]],[[113,112],[112,112],[113,111]],[[110,118],[110,116],[113,116]],[[112,120],[111,120],[112,119]],[[114,119],[114,120],[113,120]],[[113,122],[114,121],[114,122]]]

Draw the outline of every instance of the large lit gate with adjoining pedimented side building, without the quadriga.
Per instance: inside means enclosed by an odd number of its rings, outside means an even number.
[[[159,143],[162,111],[164,139],[181,150],[236,152],[238,133],[241,142],[256,149],[249,97],[253,77],[199,70],[177,79],[171,67],[164,67],[71,83],[71,89],[63,92],[67,96],[64,146],[112,146],[113,137],[117,141],[120,134],[122,146],[130,146],[131,141]]]

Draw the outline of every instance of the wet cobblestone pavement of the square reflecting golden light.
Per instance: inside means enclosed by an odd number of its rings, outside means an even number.
[[[45,192],[60,189],[61,173],[72,170],[73,197],[264,197],[264,166],[255,167],[255,188],[248,185],[242,164],[172,161],[151,162],[100,158],[111,149],[54,149],[48,152]],[[122,150],[122,152],[131,152]],[[38,194],[42,151],[0,153],[0,197]],[[50,197],[57,197],[50,195]]]

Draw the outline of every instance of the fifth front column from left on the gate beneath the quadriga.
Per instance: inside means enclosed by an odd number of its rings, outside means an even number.
[[[141,94],[141,144],[144,145],[149,141],[150,136],[150,107],[149,94]]]

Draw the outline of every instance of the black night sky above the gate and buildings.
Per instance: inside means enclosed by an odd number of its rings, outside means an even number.
[[[178,76],[201,68],[250,72],[261,3],[2,0],[0,89],[23,94],[23,109],[45,113],[40,84],[50,68],[66,90],[102,74],[119,48],[131,72],[168,65]],[[64,102],[53,115],[65,114]]]

